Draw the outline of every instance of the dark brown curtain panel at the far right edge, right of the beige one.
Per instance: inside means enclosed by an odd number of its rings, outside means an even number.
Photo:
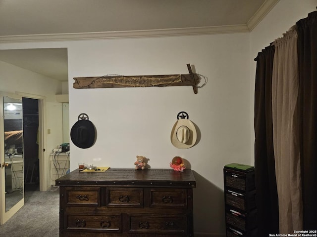
[[[304,230],[317,228],[317,11],[297,23]]]

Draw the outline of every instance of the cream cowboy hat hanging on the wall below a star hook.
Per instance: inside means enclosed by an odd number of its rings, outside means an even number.
[[[170,141],[174,147],[187,149],[195,145],[197,132],[194,123],[186,118],[178,119],[170,134]]]

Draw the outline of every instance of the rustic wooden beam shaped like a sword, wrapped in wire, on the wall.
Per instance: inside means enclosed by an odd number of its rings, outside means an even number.
[[[197,84],[200,77],[191,71],[186,75],[151,75],[151,76],[120,76],[106,75],[103,77],[82,77],[74,78],[73,87],[75,89],[85,88],[114,88],[114,87],[151,87],[151,86],[193,86],[194,93],[197,94]]]

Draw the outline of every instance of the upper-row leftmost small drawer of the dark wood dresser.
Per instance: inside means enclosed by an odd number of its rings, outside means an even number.
[[[101,206],[100,190],[98,187],[67,187],[66,205]]]

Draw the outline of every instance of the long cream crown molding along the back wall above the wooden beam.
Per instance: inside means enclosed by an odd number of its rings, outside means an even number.
[[[228,34],[228,33],[243,33],[243,32],[249,32],[249,28],[247,25],[173,28],[173,29],[142,30],[142,31],[113,31],[113,32],[90,32],[90,33],[69,33],[69,34],[0,36],[0,43],[71,41],[71,40],[104,40],[104,39],[123,39],[123,38]]]

